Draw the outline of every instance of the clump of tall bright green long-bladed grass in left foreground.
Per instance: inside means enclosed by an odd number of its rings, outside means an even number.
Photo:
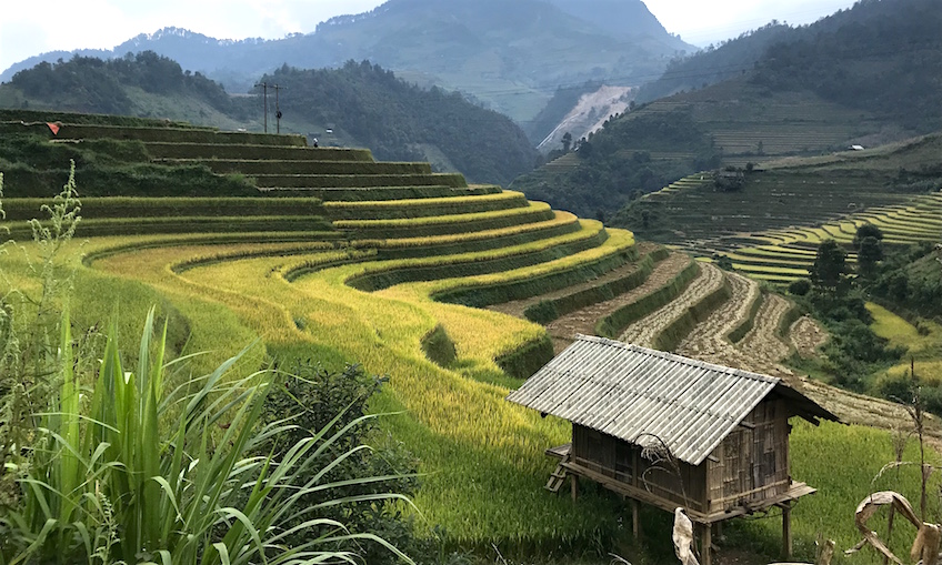
[[[329,454],[362,418],[333,430],[337,416],[275,461],[263,454],[267,446],[293,426],[290,418],[262,424],[267,372],[226,379],[236,356],[166,393],[166,330],[151,342],[151,312],[138,370],[124,370],[112,326],[90,400],[82,402],[68,316],[61,327],[59,387],[37,414],[41,425],[20,481],[21,504],[0,518],[4,563],[300,565],[352,561],[355,541],[379,543],[411,563],[382,538],[318,516],[328,506],[398,495],[299,504],[344,484],[391,478],[325,480],[362,448]],[[289,545],[299,532],[312,535]]]

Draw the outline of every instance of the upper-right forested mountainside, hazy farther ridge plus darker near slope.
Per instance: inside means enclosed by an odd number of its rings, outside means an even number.
[[[746,74],[772,91],[809,90],[916,133],[942,127],[942,2],[863,0],[810,26],[778,22],[672,61],[647,102]]]

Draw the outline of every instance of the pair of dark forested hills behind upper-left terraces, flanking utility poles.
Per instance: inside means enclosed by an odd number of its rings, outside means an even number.
[[[420,89],[368,62],[302,71],[283,67],[261,80],[279,83],[283,132],[321,135],[371,149],[384,160],[431,161],[477,182],[510,183],[538,153],[510,119],[460,93]],[[76,57],[40,63],[0,85],[0,107],[78,110],[187,120],[223,129],[262,129],[259,95],[230,97],[200,73],[147,51],[121,59]],[[274,100],[269,92],[269,125]],[[332,129],[330,139],[323,132]]]

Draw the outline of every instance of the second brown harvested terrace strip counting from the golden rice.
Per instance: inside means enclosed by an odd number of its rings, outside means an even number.
[[[658,263],[651,275],[644,283],[624,294],[620,294],[612,300],[599,302],[591,306],[585,306],[567,314],[559,320],[547,325],[547,331],[553,340],[553,345],[557,353],[565,349],[572,343],[573,337],[578,333],[594,335],[595,322],[611,314],[615,310],[631,304],[639,299],[651,294],[668,283],[671,279],[678,275],[683,269],[690,264],[691,259],[683,253],[671,253],[671,255]]]

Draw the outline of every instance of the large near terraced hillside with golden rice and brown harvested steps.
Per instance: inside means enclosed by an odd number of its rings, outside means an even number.
[[[543,451],[569,440],[568,424],[503,400],[575,332],[637,339],[640,329],[664,349],[818,386],[779,365],[793,340],[814,349],[813,329],[793,325],[788,303],[682,253],[635,244],[631,232],[423,164],[375,163],[365,151],[148,130],[67,123],[60,135],[76,147],[101,135],[142,143],[164,167],[234,171],[258,186],[239,195],[83,198],[77,323],[104,323],[116,303],[122,320],[138,320],[157,304],[176,354],[209,351],[192,361],[194,372],[258,340],[243,361],[250,370],[309,359],[389,375],[372,410],[394,414],[383,427],[427,473],[415,501],[420,535],[441,526],[449,547],[565,552],[621,535],[604,497],[573,505],[543,490],[552,465]],[[39,204],[4,199],[17,239]],[[19,252],[0,265],[13,284],[36,289]],[[829,387],[814,394],[849,421],[876,421],[873,410],[898,415],[863,400],[853,412]],[[802,512],[813,513],[813,527],[825,511],[802,505],[798,523]]]

